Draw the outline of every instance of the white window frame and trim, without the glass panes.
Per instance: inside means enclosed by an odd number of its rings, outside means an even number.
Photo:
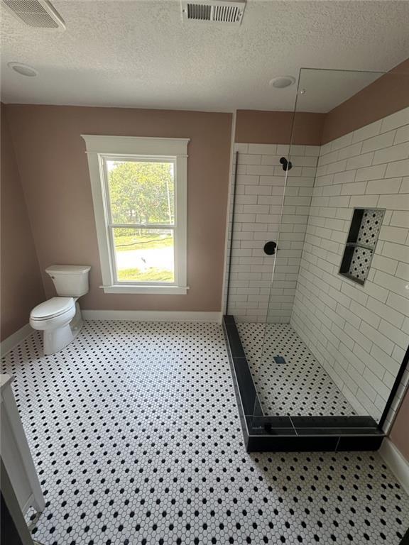
[[[140,136],[97,136],[82,134],[85,141],[95,225],[105,293],[186,294],[187,286],[187,145],[190,138],[143,138]],[[118,282],[109,206],[107,160],[168,161],[174,164],[175,221],[174,282]],[[119,224],[115,224],[119,225]],[[121,226],[121,225],[119,225]],[[125,224],[124,224],[125,226]],[[126,224],[129,228],[149,228],[150,224]],[[153,224],[155,229],[169,225]]]

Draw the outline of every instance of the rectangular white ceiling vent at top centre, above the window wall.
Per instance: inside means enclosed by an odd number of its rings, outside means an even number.
[[[182,19],[196,23],[238,26],[241,24],[245,7],[245,1],[182,0]]]

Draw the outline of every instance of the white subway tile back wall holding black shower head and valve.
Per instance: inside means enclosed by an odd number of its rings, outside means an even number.
[[[234,146],[239,160],[228,310],[237,321],[266,321],[269,297],[270,321],[290,321],[320,147],[293,146],[294,166],[288,171],[283,207],[285,172],[280,158],[288,156],[288,148],[275,144]],[[232,204],[229,240],[231,212]],[[267,241],[278,243],[272,290],[275,258],[263,251]]]

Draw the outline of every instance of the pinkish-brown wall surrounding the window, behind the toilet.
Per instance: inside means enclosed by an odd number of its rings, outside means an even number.
[[[52,263],[92,265],[83,309],[219,311],[229,184],[231,114],[7,105],[46,297]],[[104,294],[81,134],[190,138],[187,295]]]

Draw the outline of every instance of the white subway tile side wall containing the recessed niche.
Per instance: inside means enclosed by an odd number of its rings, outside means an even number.
[[[409,344],[408,118],[322,146],[290,320],[354,409],[376,418]],[[354,207],[386,209],[364,286],[338,274]],[[388,423],[407,382],[408,371]]]

